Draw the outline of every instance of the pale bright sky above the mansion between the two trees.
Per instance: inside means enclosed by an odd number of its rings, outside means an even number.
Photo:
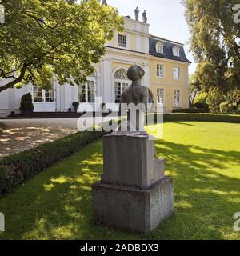
[[[186,44],[186,56],[192,62],[190,74],[194,73],[196,64],[188,50],[190,32],[181,0],[107,0],[107,3],[116,7],[119,14],[129,15],[131,18],[134,18],[134,9],[138,6],[139,20],[142,19],[143,10],[146,10],[150,34]]]

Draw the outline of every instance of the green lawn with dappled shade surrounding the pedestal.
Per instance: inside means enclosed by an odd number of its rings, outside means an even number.
[[[0,199],[0,239],[240,239],[240,124],[178,122],[155,142],[174,178],[175,214],[153,234],[94,224],[91,183],[102,173],[102,141],[50,167]]]

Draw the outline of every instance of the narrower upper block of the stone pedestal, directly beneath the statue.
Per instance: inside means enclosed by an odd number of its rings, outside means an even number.
[[[111,134],[103,139],[104,183],[146,188],[164,178],[164,168],[146,135]]]

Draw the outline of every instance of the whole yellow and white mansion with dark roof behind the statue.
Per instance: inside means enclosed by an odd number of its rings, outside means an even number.
[[[119,103],[122,90],[130,85],[126,71],[132,65],[142,66],[145,76],[142,85],[149,86],[154,94],[154,107],[164,112],[189,107],[189,60],[183,45],[149,33],[149,24],[125,17],[123,33],[114,33],[106,43],[106,54],[94,64],[94,73],[81,86],[60,86],[53,78],[53,88],[42,90],[38,86],[13,88],[0,94],[0,116],[19,112],[21,97],[31,93],[34,112],[69,111],[73,102],[84,108],[86,103],[101,110],[103,103]],[[0,85],[2,85],[0,81]]]

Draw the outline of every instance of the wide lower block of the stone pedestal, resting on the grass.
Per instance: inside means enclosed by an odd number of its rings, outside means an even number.
[[[93,194],[94,219],[124,230],[153,231],[174,211],[172,178],[163,178],[147,189],[98,182]]]

